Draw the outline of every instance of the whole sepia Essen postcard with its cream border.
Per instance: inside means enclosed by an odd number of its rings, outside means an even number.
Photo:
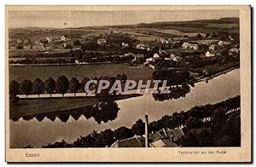
[[[251,159],[249,6],[7,6],[6,24],[12,161]]]

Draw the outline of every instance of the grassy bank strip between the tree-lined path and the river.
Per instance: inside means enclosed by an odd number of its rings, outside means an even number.
[[[131,97],[139,96],[132,95],[116,95],[111,98],[113,101],[123,100]],[[10,103],[9,118],[19,118],[38,113],[60,112],[79,107],[88,107],[99,101],[96,96],[88,97],[64,97],[64,98],[42,98],[42,99],[20,99],[18,104]]]

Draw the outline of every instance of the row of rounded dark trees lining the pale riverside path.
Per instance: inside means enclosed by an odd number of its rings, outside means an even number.
[[[93,80],[111,80],[112,83],[115,80],[125,81],[127,80],[127,76],[125,74],[118,74],[116,77],[100,77],[100,78],[93,78]],[[17,81],[13,80],[9,83],[9,95],[10,98],[13,99],[16,95],[23,94],[23,95],[39,95],[48,93],[50,96],[54,93],[66,94],[67,92],[71,93],[78,93],[79,90],[84,91],[84,85],[90,81],[90,78],[83,78],[82,82],[79,82],[77,78],[71,78],[68,81],[67,77],[61,75],[55,81],[53,78],[48,78],[44,82],[40,78],[36,78],[33,82],[31,80],[24,80],[22,83],[18,83]],[[96,85],[91,85],[96,88]]]

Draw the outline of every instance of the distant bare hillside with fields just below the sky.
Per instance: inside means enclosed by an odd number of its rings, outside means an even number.
[[[166,21],[154,23],[140,23],[136,25],[119,25],[119,26],[86,26],[77,28],[42,28],[42,27],[28,27],[9,29],[10,38],[26,39],[27,37],[41,38],[41,37],[59,37],[67,35],[69,37],[81,37],[87,34],[99,34],[117,30],[122,32],[144,31],[144,29],[163,29],[163,30],[177,30],[179,32],[229,32],[230,34],[239,33],[239,18],[222,18],[219,20],[190,20],[190,21]]]

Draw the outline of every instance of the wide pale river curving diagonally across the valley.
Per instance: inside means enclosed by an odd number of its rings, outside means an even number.
[[[189,110],[191,107],[214,104],[230,97],[240,95],[240,69],[233,70],[208,82],[195,83],[185,97],[176,100],[155,101],[153,95],[117,101],[119,112],[117,118],[108,123],[98,124],[94,118],[86,119],[82,115],[78,120],[69,117],[67,123],[56,118],[51,121],[44,118],[38,122],[36,118],[30,121],[10,120],[10,147],[42,147],[55,141],[74,141],[80,135],[87,135],[92,130],[101,131],[117,129],[121,126],[131,127],[137,119],[148,114],[149,122],[157,120],[166,114]]]

